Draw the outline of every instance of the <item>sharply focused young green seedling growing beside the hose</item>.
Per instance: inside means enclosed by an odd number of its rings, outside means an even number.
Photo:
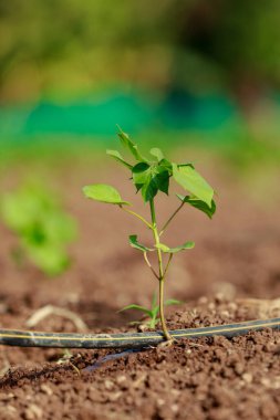
[[[132,203],[124,200],[121,197],[118,190],[114,187],[97,183],[83,188],[84,195],[93,200],[101,201],[107,204],[116,206],[122,211],[134,216],[139,219],[143,224],[152,232],[154,244],[147,246],[138,242],[137,235],[129,235],[129,244],[132,248],[143,253],[144,260],[152,271],[153,275],[158,281],[158,305],[159,305],[159,318],[163,328],[164,337],[172,342],[172,336],[168,333],[165,315],[164,315],[164,286],[166,275],[170,266],[173,256],[183,251],[190,250],[195,246],[193,241],[187,241],[182,245],[172,248],[162,241],[163,234],[167,227],[186,204],[197,210],[203,211],[210,219],[216,211],[216,203],[214,201],[214,189],[209,183],[196,171],[195,167],[190,162],[175,164],[169,161],[159,148],[152,148],[151,157],[146,158],[139,151],[137,145],[135,145],[127,134],[121,128],[118,137],[124,148],[131,155],[126,160],[117,150],[107,150],[107,155],[114,158],[118,164],[123,165],[129,172],[131,181],[136,188],[136,192],[142,193],[142,198],[145,204],[149,206],[151,220],[146,220],[138,212],[131,209]],[[170,179],[187,193],[177,193],[179,206],[170,214],[163,227],[157,224],[157,212],[155,206],[155,199],[158,193],[165,193],[168,196]],[[156,253],[157,267],[153,266],[149,260],[149,254]],[[166,256],[166,258],[165,258]],[[165,261],[166,260],[166,261]]]

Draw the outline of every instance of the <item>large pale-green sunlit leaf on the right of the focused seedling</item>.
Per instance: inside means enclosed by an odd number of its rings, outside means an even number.
[[[191,195],[211,207],[214,189],[209,183],[191,167],[173,164],[174,179]]]

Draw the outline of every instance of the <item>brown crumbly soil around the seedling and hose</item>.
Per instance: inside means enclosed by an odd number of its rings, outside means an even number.
[[[197,243],[176,258],[169,273],[167,297],[191,302],[168,309],[170,329],[280,316],[277,206],[265,209],[249,201],[229,175],[209,172],[219,190],[217,217],[210,222],[184,210],[166,239],[172,245]],[[27,329],[27,319],[52,304],[76,313],[94,333],[135,330],[128,322],[138,314],[116,311],[129,303],[148,305],[156,288],[141,254],[127,246],[127,235],[143,232],[142,225],[80,193],[84,183],[98,179],[122,186],[122,178],[60,175],[58,188],[68,186],[65,200],[80,222],[73,266],[55,280],[30,265],[19,270],[9,258],[14,238],[1,225],[1,326]],[[134,199],[126,187],[122,192]],[[160,220],[174,206],[163,199]],[[148,232],[141,240],[148,241]],[[70,319],[54,315],[35,329],[76,330]],[[182,340],[105,363],[102,358],[116,351],[71,353],[70,360],[58,364],[63,356],[58,349],[0,348],[0,419],[280,418],[279,332]],[[85,369],[96,361],[97,367]]]

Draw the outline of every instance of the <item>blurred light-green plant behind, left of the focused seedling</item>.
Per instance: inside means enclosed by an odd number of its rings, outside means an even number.
[[[70,263],[66,245],[76,235],[74,220],[64,212],[43,185],[24,185],[1,200],[6,225],[18,237],[13,256],[29,259],[50,276],[61,274]]]

